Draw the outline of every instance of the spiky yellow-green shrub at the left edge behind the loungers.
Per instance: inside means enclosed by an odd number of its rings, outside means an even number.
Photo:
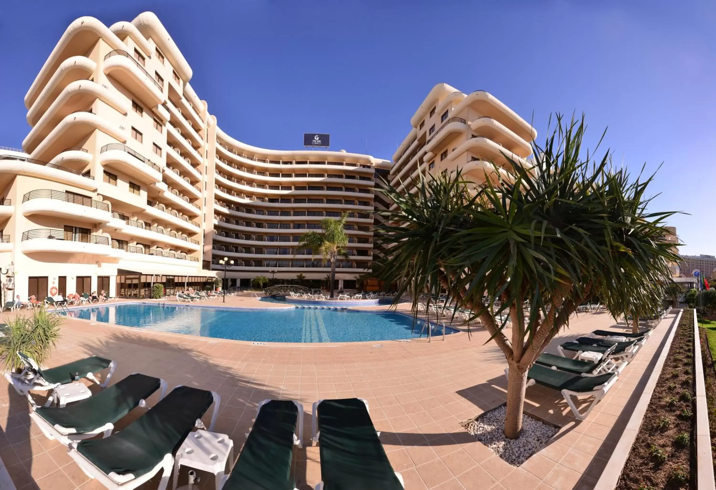
[[[0,337],[0,367],[4,371],[19,372],[22,363],[17,352],[24,352],[43,363],[59,338],[62,317],[44,308],[32,311],[32,315],[16,315],[7,322],[7,331]]]

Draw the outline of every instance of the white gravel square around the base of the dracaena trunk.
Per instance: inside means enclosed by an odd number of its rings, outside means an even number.
[[[507,407],[499,406],[465,423],[465,429],[481,443],[513,466],[520,466],[542,449],[558,428],[522,415],[522,433],[516,439],[505,437],[505,413]]]

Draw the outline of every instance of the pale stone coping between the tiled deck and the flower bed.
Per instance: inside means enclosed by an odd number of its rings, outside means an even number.
[[[642,427],[644,414],[647,413],[649,402],[652,401],[654,386],[656,386],[657,381],[659,381],[659,376],[661,376],[662,368],[664,367],[664,362],[669,354],[669,349],[671,348],[672,340],[674,340],[674,334],[676,333],[677,325],[679,325],[679,320],[681,320],[682,313],[683,310],[680,310],[679,314],[676,318],[674,318],[674,321],[669,327],[667,337],[662,340],[662,351],[659,353],[659,357],[654,365],[651,376],[649,376],[647,384],[644,386],[644,391],[642,391],[641,396],[639,396],[637,405],[634,406],[634,411],[632,411],[632,416],[629,418],[627,427],[624,428],[624,431],[621,433],[619,441],[616,443],[616,447],[611,453],[609,462],[606,464],[604,471],[594,486],[594,490],[613,490],[616,488],[616,484],[619,483],[621,471],[624,469],[624,465],[627,464],[629,453],[632,451],[634,441],[637,440],[639,428]]]

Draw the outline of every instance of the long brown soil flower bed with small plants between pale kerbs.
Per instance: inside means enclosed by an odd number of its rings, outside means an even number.
[[[695,489],[694,317],[684,310],[617,489]]]

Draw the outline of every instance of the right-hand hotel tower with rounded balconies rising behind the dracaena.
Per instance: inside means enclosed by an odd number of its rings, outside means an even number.
[[[529,167],[535,129],[484,90],[470,94],[437,84],[410,119],[412,129],[393,155],[390,183],[415,191],[419,175],[461,169],[477,184],[497,173],[508,177],[511,164]]]

